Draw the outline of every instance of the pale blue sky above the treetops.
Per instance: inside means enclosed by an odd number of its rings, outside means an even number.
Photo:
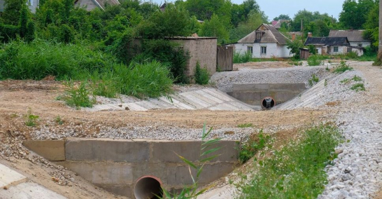
[[[164,0],[152,1],[158,4],[165,2]],[[174,1],[169,0],[167,2]],[[231,0],[231,2],[241,4],[243,0]],[[334,18],[338,19],[344,0],[318,0],[314,1],[314,3],[312,0],[256,0],[256,2],[259,4],[260,9],[268,16],[269,20],[280,14],[287,14],[290,18],[293,18],[297,11],[304,9],[312,12],[328,13],[329,16],[333,15]]]

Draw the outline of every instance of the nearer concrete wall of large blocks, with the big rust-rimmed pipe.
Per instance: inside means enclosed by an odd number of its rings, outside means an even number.
[[[193,184],[188,166],[175,153],[197,164],[201,143],[70,138],[27,140],[23,145],[107,191],[130,198],[153,198],[152,193],[160,194],[161,186],[176,191]],[[238,140],[223,140],[217,146],[222,147],[217,153],[220,156],[203,167],[207,174],[201,176],[200,186],[226,176],[238,165]]]

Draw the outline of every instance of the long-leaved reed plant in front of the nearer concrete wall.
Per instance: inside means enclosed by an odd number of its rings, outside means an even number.
[[[162,187],[163,196],[162,197],[158,196],[158,198],[196,199],[198,195],[204,193],[206,190],[212,187],[212,186],[208,186],[202,189],[198,189],[199,179],[201,177],[204,165],[206,165],[207,162],[218,157],[219,155],[214,155],[214,154],[216,154],[216,152],[218,152],[222,148],[222,147],[215,146],[217,143],[220,142],[221,138],[207,140],[207,137],[209,137],[209,134],[211,133],[211,131],[212,131],[212,128],[210,128],[206,132],[206,124],[204,123],[203,134],[202,134],[203,143],[201,144],[201,148],[200,148],[199,162],[193,163],[187,160],[186,158],[182,157],[181,155],[178,155],[175,153],[184,163],[188,165],[190,178],[193,180],[193,184],[190,186],[185,186],[179,193],[174,192],[173,194]],[[192,170],[195,170],[195,172],[192,172]],[[196,174],[193,174],[193,173],[196,173]]]

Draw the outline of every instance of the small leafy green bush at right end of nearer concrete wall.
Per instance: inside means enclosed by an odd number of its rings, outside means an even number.
[[[254,157],[258,151],[262,150],[266,146],[271,148],[271,142],[271,137],[269,135],[264,135],[263,130],[260,130],[256,139],[250,139],[247,143],[241,145],[239,161],[241,163],[245,163]]]

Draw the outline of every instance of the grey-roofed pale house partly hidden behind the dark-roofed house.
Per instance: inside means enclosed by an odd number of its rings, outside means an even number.
[[[347,37],[350,46],[366,47],[371,44],[371,41],[363,38],[365,30],[331,30],[329,37]]]

